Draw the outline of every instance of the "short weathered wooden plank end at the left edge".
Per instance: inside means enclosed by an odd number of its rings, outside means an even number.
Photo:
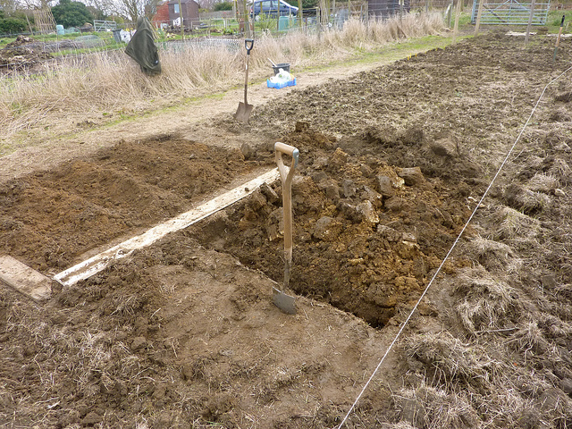
[[[0,280],[35,301],[49,299],[52,279],[9,256],[0,256]]]

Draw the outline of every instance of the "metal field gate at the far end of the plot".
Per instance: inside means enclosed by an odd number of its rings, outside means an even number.
[[[483,1],[483,12],[481,13],[481,24],[501,24],[501,25],[526,25],[530,17],[529,2],[519,2],[517,0],[474,0],[471,22],[476,21],[476,14],[479,10],[479,2]],[[546,24],[546,17],[550,9],[550,0],[535,2],[533,25]]]

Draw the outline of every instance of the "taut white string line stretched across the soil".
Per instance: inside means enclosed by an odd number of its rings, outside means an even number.
[[[481,206],[481,204],[483,203],[484,198],[486,197],[486,195],[489,193],[489,190],[492,188],[492,184],[494,183],[494,181],[496,181],[497,177],[499,176],[499,174],[501,173],[502,167],[504,167],[505,164],[507,164],[507,161],[509,160],[509,156],[510,154],[512,154],[512,151],[514,150],[514,148],[517,146],[517,142],[520,139],[520,137],[522,136],[522,134],[525,132],[526,126],[528,125],[528,122],[530,122],[530,120],[532,119],[534,112],[536,111],[536,107],[538,107],[538,105],[540,104],[540,100],[543,98],[544,92],[546,92],[546,88],[548,88],[552,83],[554,83],[556,80],[559,80],[564,74],[566,74],[570,69],[572,69],[572,66],[568,67],[568,69],[566,69],[565,71],[562,71],[558,77],[554,78],[553,80],[551,80],[549,83],[546,84],[546,86],[543,89],[543,92],[541,93],[540,97],[538,97],[538,100],[536,101],[536,104],[534,105],[533,111],[530,113],[530,116],[528,116],[528,119],[526,120],[525,125],[522,127],[522,130],[520,130],[520,133],[518,134],[517,139],[515,140],[515,142],[512,144],[512,147],[510,147],[509,153],[507,154],[507,156],[505,156],[504,161],[502,161],[501,166],[499,167],[499,170],[497,171],[497,173],[494,175],[494,177],[492,178],[491,183],[489,184],[488,188],[484,191],[483,197],[481,197],[481,199],[479,200],[478,204],[475,206],[475,210],[473,210],[473,213],[469,216],[467,223],[465,223],[465,226],[463,226],[463,229],[459,232],[457,239],[455,240],[455,242],[453,243],[453,245],[451,246],[451,248],[449,249],[449,252],[447,252],[447,255],[445,256],[445,258],[442,260],[441,265],[439,265],[439,268],[437,268],[437,271],[433,274],[433,277],[431,279],[431,282],[429,282],[429,284],[427,284],[427,287],[425,288],[425,290],[423,291],[423,293],[421,294],[421,297],[419,297],[419,299],[416,302],[415,307],[413,307],[413,309],[411,310],[411,312],[408,315],[408,318],[405,320],[405,322],[403,322],[403,324],[401,324],[400,327],[400,331],[397,332],[397,335],[395,336],[395,338],[393,339],[393,341],[391,341],[390,347],[385,350],[385,354],[382,357],[382,360],[379,361],[379,364],[377,364],[377,366],[374,369],[374,373],[371,374],[371,376],[369,377],[369,379],[367,380],[367,383],[364,385],[363,389],[359,392],[359,395],[357,395],[357,399],[354,401],[354,403],[351,405],[351,407],[348,410],[348,413],[346,414],[346,416],[343,417],[343,420],[341,421],[341,424],[338,426],[338,429],[341,429],[341,426],[346,423],[346,420],[348,420],[349,414],[351,414],[351,412],[353,411],[354,408],[356,408],[357,402],[361,399],[362,395],[364,394],[364,392],[366,391],[367,387],[369,386],[369,383],[372,382],[372,380],[374,379],[375,374],[377,374],[377,371],[379,371],[379,368],[382,366],[383,361],[385,360],[385,357],[387,357],[387,355],[389,354],[389,352],[391,351],[391,349],[393,348],[393,346],[395,345],[395,343],[398,341],[398,339],[400,338],[401,332],[403,332],[403,330],[405,329],[405,326],[408,324],[409,320],[411,319],[411,317],[413,316],[413,314],[416,312],[417,307],[419,307],[419,304],[421,303],[421,301],[424,299],[425,294],[427,293],[427,291],[429,290],[429,288],[431,287],[431,285],[433,284],[433,281],[435,280],[435,278],[437,277],[437,274],[439,274],[441,272],[442,266],[445,264],[445,261],[447,261],[447,259],[450,257],[451,252],[453,251],[453,249],[455,248],[455,246],[457,246],[458,240],[460,240],[461,236],[463,235],[463,232],[465,232],[465,230],[467,229],[468,224],[471,222],[471,220],[473,219],[473,217],[475,216],[476,210],[479,208],[479,206]]]

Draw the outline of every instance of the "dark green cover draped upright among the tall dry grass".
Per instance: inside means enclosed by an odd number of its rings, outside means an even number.
[[[133,58],[145,73],[154,75],[161,72],[155,32],[147,18],[140,17],[137,20],[137,31],[127,44],[125,54]]]

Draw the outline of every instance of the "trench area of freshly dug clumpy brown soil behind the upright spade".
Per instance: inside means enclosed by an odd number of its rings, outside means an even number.
[[[482,189],[479,168],[453,140],[429,141],[419,129],[383,133],[383,139],[371,130],[366,139],[340,140],[304,122],[297,129],[284,139],[299,148],[301,159],[292,185],[290,287],[383,327],[396,308],[415,304],[466,223],[475,207],[469,194]],[[423,170],[415,165],[421,158]],[[281,182],[189,233],[282,282]],[[453,258],[445,271],[467,264]]]

